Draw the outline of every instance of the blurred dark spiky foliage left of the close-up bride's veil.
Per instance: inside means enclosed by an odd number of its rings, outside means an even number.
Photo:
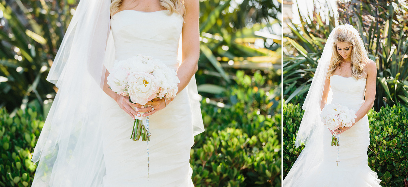
[[[0,106],[13,110],[36,100],[41,107],[55,95],[45,78],[76,1],[0,2]]]

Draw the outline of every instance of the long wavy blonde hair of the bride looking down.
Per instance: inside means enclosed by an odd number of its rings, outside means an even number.
[[[337,43],[344,42],[353,46],[351,51],[351,75],[354,79],[362,78],[366,74],[364,71],[366,59],[366,48],[361,46],[359,43],[359,36],[355,35],[353,31],[348,29],[346,26],[338,26],[339,28],[335,29],[334,42],[333,42],[333,53],[330,59],[329,70],[327,72],[327,78],[333,75],[335,70],[340,67],[343,62],[343,57],[337,52]]]

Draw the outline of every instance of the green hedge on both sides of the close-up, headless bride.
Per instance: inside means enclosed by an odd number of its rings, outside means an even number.
[[[202,100],[206,131],[195,136],[191,149],[193,183],[197,187],[280,187],[279,86],[266,83],[259,73],[248,76],[242,71],[236,81],[225,93],[224,107]],[[0,109],[1,187],[32,183],[36,165],[31,153],[44,125],[38,114],[42,112],[35,108],[15,114]]]

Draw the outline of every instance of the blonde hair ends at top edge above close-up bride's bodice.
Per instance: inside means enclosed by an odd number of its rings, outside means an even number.
[[[118,11],[122,6],[123,0],[112,0],[111,2],[111,16]],[[164,10],[169,10],[169,15],[177,13],[183,16],[186,11],[184,7],[184,0],[159,0],[160,7]]]

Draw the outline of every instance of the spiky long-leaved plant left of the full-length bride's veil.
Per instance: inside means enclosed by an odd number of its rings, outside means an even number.
[[[328,15],[328,20],[315,13],[312,22],[300,16],[302,26],[288,25],[291,33],[285,35],[282,67],[285,103],[303,103],[306,98],[326,39],[335,27],[334,15]]]

